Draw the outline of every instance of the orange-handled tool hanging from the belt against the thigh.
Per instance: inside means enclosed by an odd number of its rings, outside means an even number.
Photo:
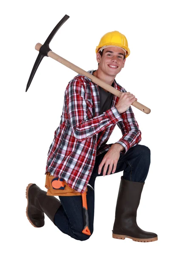
[[[83,210],[83,222],[84,222],[84,228],[82,230],[82,233],[90,236],[91,232],[88,227],[88,205],[87,205],[87,199],[86,199],[86,192],[82,193],[82,210]]]

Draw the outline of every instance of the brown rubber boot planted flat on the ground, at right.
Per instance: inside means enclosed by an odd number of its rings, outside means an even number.
[[[116,204],[113,238],[130,238],[138,242],[158,240],[155,233],[146,232],[136,223],[136,213],[139,206],[144,183],[125,180],[121,177],[119,194]]]

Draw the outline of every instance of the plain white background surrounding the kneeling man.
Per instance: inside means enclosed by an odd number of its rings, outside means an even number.
[[[138,243],[112,238],[122,173],[100,177],[95,187],[94,233],[76,241],[61,233],[45,216],[34,228],[26,218],[28,183],[45,190],[45,165],[59,126],[64,92],[77,75],[51,58],[43,58],[26,93],[43,44],[67,14],[70,18],[51,41],[53,52],[84,70],[97,69],[95,48],[106,33],[127,38],[130,56],[116,81],[151,109],[133,108],[142,142],[151,150],[137,222],[158,234],[158,241]],[[6,1],[1,5],[1,224],[3,255],[167,255],[169,242],[169,8],[168,1]],[[108,143],[122,137],[115,128]],[[101,187],[107,187],[106,192]],[[1,240],[2,241],[2,240]]]

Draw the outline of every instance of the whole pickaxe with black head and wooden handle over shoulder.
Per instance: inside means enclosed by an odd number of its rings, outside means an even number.
[[[34,67],[31,71],[31,75],[30,75],[28,83],[27,83],[26,91],[28,90],[28,88],[31,84],[31,81],[32,81],[32,79],[33,79],[33,77],[34,77],[34,75],[37,71],[37,68],[40,65],[43,57],[44,56],[49,56],[49,57],[53,58],[54,60],[59,61],[61,64],[65,65],[66,67],[69,67],[71,70],[74,70],[78,74],[88,77],[95,84],[98,84],[103,89],[109,91],[110,93],[113,93],[114,95],[116,95],[117,97],[120,98],[122,92],[120,92],[119,90],[116,90],[114,87],[110,86],[109,84],[106,84],[105,82],[101,81],[97,77],[91,75],[90,73],[86,72],[85,70],[82,70],[81,68],[77,67],[76,65],[74,65],[70,61],[67,61],[66,59],[64,59],[61,56],[57,55],[56,53],[52,52],[51,49],[49,48],[49,44],[50,44],[51,40],[53,39],[54,35],[58,31],[58,29],[62,26],[62,24],[65,23],[66,20],[68,20],[68,18],[69,18],[69,16],[65,15],[59,21],[59,23],[57,24],[57,26],[55,26],[55,28],[53,29],[51,34],[48,36],[47,40],[45,41],[45,43],[43,45],[40,44],[40,43],[36,44],[35,49],[37,51],[39,51],[39,54],[38,54],[38,57],[37,57],[37,59],[34,63]],[[139,110],[143,111],[146,114],[150,113],[149,108],[147,108],[146,106],[142,105],[141,103],[139,103],[137,101],[133,102],[132,105],[134,107],[138,108]]]

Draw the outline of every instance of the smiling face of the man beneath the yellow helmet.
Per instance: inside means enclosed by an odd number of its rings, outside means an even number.
[[[126,58],[124,60],[125,52],[118,47],[108,47],[103,49],[103,55],[97,53],[98,69],[108,76],[116,76],[124,67]]]

